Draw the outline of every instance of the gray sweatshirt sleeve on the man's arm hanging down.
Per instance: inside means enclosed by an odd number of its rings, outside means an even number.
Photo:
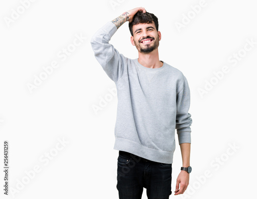
[[[187,78],[183,76],[184,81],[182,89],[177,93],[177,114],[176,129],[178,134],[178,143],[191,143],[191,114],[188,113],[190,107],[190,89]]]

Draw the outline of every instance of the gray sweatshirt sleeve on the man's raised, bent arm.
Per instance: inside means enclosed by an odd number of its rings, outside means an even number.
[[[109,21],[90,40],[97,61],[114,82],[117,82],[123,74],[123,62],[125,59],[112,44],[109,44],[116,31],[116,25]]]

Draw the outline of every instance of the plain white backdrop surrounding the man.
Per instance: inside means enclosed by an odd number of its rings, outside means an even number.
[[[196,13],[199,4],[205,6]],[[1,198],[118,198],[116,87],[89,41],[107,21],[141,6],[159,19],[160,60],[182,71],[191,90],[193,171],[188,190],[174,196],[181,167],[176,136],[170,198],[252,198],[255,5],[254,0],[1,1],[1,170],[5,140],[10,166],[9,195],[1,189]],[[138,57],[128,22],[110,43],[125,56]],[[51,64],[58,67],[50,71]],[[31,93],[28,84],[40,75],[46,79],[38,79]],[[0,179],[3,187],[4,172]]]

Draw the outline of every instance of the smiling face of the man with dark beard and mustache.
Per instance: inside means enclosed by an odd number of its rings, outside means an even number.
[[[157,32],[154,23],[137,24],[132,30],[134,36],[131,36],[131,43],[139,52],[147,54],[158,48],[161,34]]]

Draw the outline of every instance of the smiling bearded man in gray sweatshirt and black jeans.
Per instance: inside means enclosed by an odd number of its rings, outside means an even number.
[[[108,43],[126,21],[138,50],[136,59]],[[175,195],[189,184],[190,90],[181,71],[159,61],[160,40],[158,18],[138,7],[107,22],[90,41],[97,61],[117,87],[114,149],[119,150],[117,189],[122,199],[141,198],[143,188],[148,198],[169,198],[175,129],[182,155]]]

